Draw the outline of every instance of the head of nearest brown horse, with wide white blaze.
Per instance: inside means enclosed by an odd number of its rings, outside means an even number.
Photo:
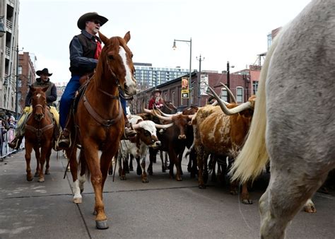
[[[119,83],[124,93],[135,95],[136,79],[134,77],[133,54],[127,46],[127,42],[130,40],[130,33],[126,33],[123,38],[111,37],[108,39],[99,32],[99,37],[105,44],[100,57],[104,57],[102,62],[106,62],[107,71],[110,71],[110,74],[114,76],[116,83]],[[102,67],[105,68],[105,66]]]

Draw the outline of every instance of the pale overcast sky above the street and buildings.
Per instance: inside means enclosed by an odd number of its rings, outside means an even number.
[[[37,57],[37,69],[48,68],[54,82],[67,82],[69,43],[80,34],[78,18],[95,11],[109,19],[100,31],[123,37],[130,31],[134,62],[154,67],[230,72],[257,63],[266,52],[267,35],[286,25],[310,0],[20,0],[19,49]],[[197,58],[196,58],[197,57]]]

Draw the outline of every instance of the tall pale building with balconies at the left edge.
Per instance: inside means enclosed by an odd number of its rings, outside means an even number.
[[[0,37],[0,107],[16,110],[18,80],[18,0],[0,0],[0,18],[4,35]]]

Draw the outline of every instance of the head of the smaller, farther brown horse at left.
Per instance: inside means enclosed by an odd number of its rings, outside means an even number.
[[[45,117],[45,105],[47,104],[47,98],[45,97],[45,91],[47,91],[47,87],[44,88],[34,88],[33,86],[29,86],[30,91],[33,93],[33,97],[31,98],[31,103],[33,105],[33,114],[37,121],[41,121],[43,117]]]

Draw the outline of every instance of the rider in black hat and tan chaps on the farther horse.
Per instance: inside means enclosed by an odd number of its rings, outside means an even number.
[[[49,111],[52,113],[54,117],[54,122],[56,122],[57,127],[54,134],[54,139],[57,139],[59,131],[59,114],[57,112],[56,107],[54,107],[54,101],[57,100],[57,87],[52,83],[49,79],[49,76],[52,76],[52,73],[49,73],[47,68],[42,69],[41,71],[36,71],[37,76],[36,81],[32,84],[33,88],[45,88],[47,87],[47,91],[45,92],[47,98],[47,105],[49,106]],[[31,106],[31,98],[33,93],[29,90],[28,95],[25,98],[25,108],[23,110],[20,119],[18,119],[18,124],[15,129],[15,138],[8,143],[8,146],[14,149],[18,149],[22,142],[23,136],[25,135],[25,122],[28,119],[28,116],[33,112],[33,107]]]

